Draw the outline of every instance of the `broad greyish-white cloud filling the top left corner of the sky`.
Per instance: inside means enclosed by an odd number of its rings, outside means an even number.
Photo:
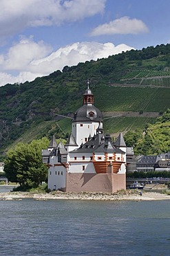
[[[29,26],[59,26],[103,12],[106,0],[1,0],[0,36]]]

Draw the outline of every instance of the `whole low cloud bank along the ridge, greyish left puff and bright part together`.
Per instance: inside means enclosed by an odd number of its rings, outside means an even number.
[[[66,65],[73,66],[78,62],[97,60],[131,49],[125,44],[114,46],[112,43],[77,42],[50,54],[50,47],[43,42],[36,43],[32,38],[21,38],[6,55],[0,55],[0,86],[32,81],[36,77],[62,70]],[[12,75],[14,73],[16,75]]]

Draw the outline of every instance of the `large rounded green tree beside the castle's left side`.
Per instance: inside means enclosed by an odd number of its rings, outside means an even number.
[[[49,140],[32,140],[30,144],[19,143],[7,153],[4,172],[8,181],[18,182],[23,188],[37,187],[47,181],[47,167],[43,165],[41,150]]]

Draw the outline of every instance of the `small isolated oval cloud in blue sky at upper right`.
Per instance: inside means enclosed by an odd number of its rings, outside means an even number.
[[[140,19],[130,19],[129,17],[121,17],[100,25],[90,33],[91,36],[96,35],[114,35],[114,34],[139,34],[147,33],[149,30],[145,23]]]

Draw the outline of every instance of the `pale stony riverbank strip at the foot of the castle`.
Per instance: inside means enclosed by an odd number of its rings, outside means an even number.
[[[50,193],[31,193],[31,192],[1,192],[0,200],[21,200],[32,198],[34,200],[49,199],[72,199],[72,200],[99,200],[99,201],[149,201],[149,200],[167,200],[170,195],[161,192],[142,191],[140,196],[139,190],[126,190],[117,193],[103,192],[61,192],[53,191]]]

